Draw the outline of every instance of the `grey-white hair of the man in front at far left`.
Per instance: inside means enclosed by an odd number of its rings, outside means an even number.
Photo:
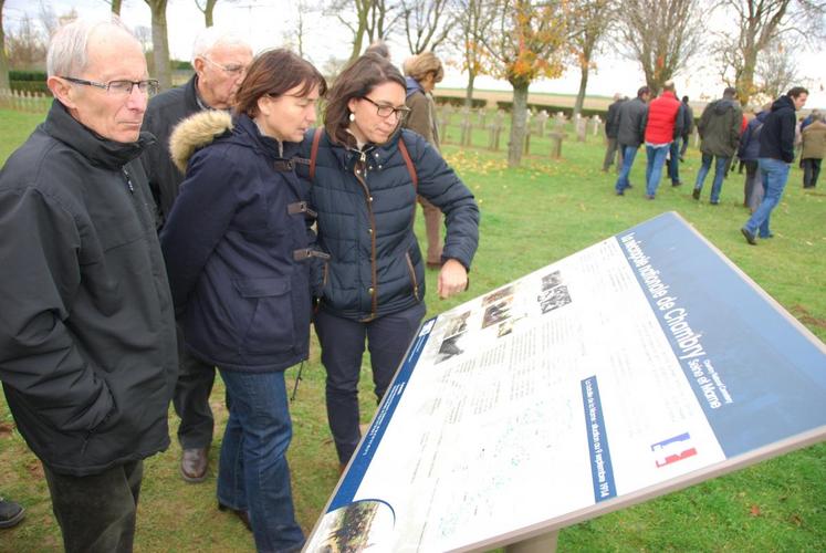
[[[107,19],[75,19],[57,29],[49,42],[46,53],[49,76],[76,76],[83,73],[88,65],[88,38],[102,27],[121,29],[129,36],[135,36],[117,15]]]

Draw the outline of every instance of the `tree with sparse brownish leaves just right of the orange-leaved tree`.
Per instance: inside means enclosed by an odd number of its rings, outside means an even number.
[[[574,45],[574,55],[579,67],[579,92],[574,103],[574,115],[583,111],[594,56],[614,18],[615,3],[610,0],[584,0],[578,2],[572,12],[571,43]]]

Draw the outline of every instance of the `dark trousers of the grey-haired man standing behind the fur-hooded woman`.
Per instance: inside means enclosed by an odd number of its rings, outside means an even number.
[[[216,379],[216,369],[189,352],[184,345],[184,334],[178,326],[178,382],[175,384],[172,405],[180,417],[178,441],[184,449],[208,448],[212,442],[215,419],[209,407],[209,395]]]

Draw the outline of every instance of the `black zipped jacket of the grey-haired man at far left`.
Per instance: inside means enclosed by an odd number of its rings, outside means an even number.
[[[55,101],[0,171],[0,379],[20,434],[59,473],[169,445],[175,320],[137,160],[151,140],[101,138]]]

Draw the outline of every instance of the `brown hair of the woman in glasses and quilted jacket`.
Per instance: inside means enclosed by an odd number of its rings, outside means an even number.
[[[324,109],[324,128],[334,143],[354,143],[353,135],[347,133],[349,126],[349,107],[352,98],[363,98],[379,84],[398,83],[402,88],[405,77],[396,66],[375,53],[365,53],[342,71],[327,95],[327,107]]]

